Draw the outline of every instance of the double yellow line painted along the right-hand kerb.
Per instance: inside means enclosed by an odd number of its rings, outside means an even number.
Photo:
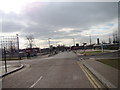
[[[90,83],[92,84],[92,86],[96,90],[102,90],[101,86],[97,83],[97,81],[93,78],[93,76],[88,72],[88,70],[79,61],[77,61],[77,63],[82,69],[82,71],[84,72],[84,74],[86,75],[86,77],[88,78],[88,80],[90,81]]]

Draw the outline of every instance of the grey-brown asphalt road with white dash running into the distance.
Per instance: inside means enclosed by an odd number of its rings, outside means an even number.
[[[3,88],[93,88],[72,52],[22,63],[24,69],[3,78]]]

